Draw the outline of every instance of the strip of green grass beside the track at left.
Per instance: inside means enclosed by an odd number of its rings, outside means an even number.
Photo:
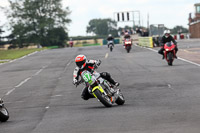
[[[46,48],[40,49],[13,49],[13,50],[0,50],[0,60],[13,60],[22,56],[28,55],[35,51],[41,51]],[[2,61],[4,62],[4,61]]]

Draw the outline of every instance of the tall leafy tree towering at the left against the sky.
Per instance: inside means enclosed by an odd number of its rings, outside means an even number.
[[[71,20],[69,8],[62,9],[61,0],[9,0],[11,11],[8,13],[12,34],[20,46],[24,43],[49,42],[49,32],[54,29],[67,30]],[[52,34],[51,34],[52,35]],[[56,36],[51,36],[53,39]],[[67,36],[66,36],[67,37]]]

